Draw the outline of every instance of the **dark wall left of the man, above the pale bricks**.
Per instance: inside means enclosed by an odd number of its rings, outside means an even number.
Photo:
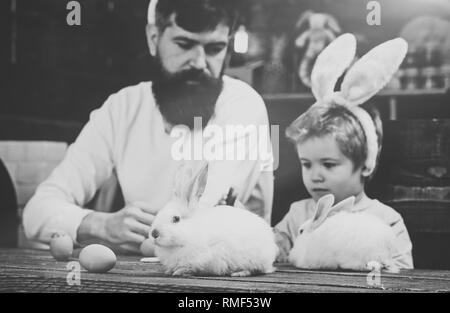
[[[80,26],[67,25],[68,1],[1,2],[1,115],[85,122],[110,94],[148,80],[148,0],[79,0]]]

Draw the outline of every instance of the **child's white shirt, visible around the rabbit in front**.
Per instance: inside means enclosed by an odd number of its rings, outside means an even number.
[[[297,236],[300,226],[314,216],[316,203],[309,198],[291,204],[288,213],[274,227],[276,231],[288,236],[291,247]],[[401,215],[391,207],[381,203],[376,199],[364,196],[353,207],[353,212],[365,211],[380,218],[387,225],[392,227],[397,238],[399,254],[395,257],[395,263],[400,268],[411,269],[414,267],[412,259],[412,243],[408,230]]]

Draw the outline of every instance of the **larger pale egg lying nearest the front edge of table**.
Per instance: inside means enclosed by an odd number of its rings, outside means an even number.
[[[88,272],[106,273],[116,265],[117,257],[110,248],[92,244],[81,250],[79,260]]]

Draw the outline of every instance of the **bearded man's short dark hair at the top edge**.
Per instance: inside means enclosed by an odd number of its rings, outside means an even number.
[[[242,0],[241,0],[242,1]],[[212,31],[219,24],[227,25],[230,34],[238,19],[237,0],[159,0],[156,5],[156,26],[164,31],[171,25],[171,16],[181,28],[199,33]]]

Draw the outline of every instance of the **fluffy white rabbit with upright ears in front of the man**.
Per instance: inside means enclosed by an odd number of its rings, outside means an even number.
[[[181,168],[174,199],[157,214],[150,230],[166,274],[249,276],[273,272],[278,248],[270,225],[233,206],[196,207],[206,184],[207,165],[197,175],[194,172]]]

